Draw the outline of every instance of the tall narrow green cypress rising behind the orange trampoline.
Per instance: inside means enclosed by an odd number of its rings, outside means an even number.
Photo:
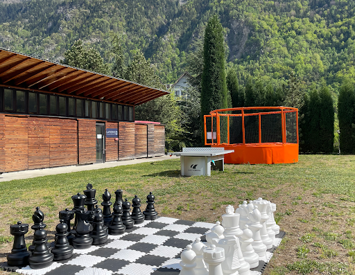
[[[227,108],[225,79],[225,48],[223,27],[217,15],[212,16],[205,30],[203,71],[201,82],[201,117],[214,109]],[[221,120],[221,138],[227,133],[227,121]]]

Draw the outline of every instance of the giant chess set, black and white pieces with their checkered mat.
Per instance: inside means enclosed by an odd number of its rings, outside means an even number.
[[[26,248],[28,224],[11,225],[13,247],[0,267],[31,275],[259,275],[284,236],[274,220],[276,205],[265,199],[235,210],[229,205],[222,223],[211,224],[159,217],[151,192],[143,213],[137,195],[130,204],[122,190],[114,193],[113,213],[107,189],[102,210],[91,184],[85,195],[73,195],[73,209],[59,212],[51,243],[37,207],[32,245]]]

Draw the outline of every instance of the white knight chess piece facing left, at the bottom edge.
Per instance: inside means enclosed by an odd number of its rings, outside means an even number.
[[[223,274],[237,275],[241,268],[238,257],[238,242],[236,236],[225,236],[224,239],[218,240],[217,247],[225,249],[225,260],[222,263]]]

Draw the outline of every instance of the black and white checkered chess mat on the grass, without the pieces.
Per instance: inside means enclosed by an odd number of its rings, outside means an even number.
[[[103,245],[74,249],[72,258],[44,269],[8,267],[6,263],[0,263],[0,268],[29,275],[178,275],[181,252],[197,237],[204,241],[214,225],[160,217],[137,224],[123,235],[109,235]],[[284,232],[277,236],[259,267],[252,269],[252,275],[263,272],[283,236]]]

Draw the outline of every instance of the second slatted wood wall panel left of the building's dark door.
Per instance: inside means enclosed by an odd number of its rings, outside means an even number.
[[[50,118],[49,166],[78,163],[78,130],[74,119]]]

